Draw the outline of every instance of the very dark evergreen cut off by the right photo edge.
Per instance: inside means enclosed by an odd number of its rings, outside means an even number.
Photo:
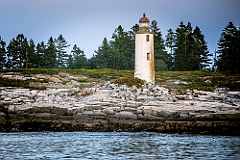
[[[232,22],[224,28],[218,42],[218,70],[240,73],[240,28]]]

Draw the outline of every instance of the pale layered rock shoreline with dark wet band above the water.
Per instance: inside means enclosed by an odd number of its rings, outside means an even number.
[[[59,85],[61,80],[51,77],[44,90],[1,87],[0,131],[154,131],[240,136],[238,91],[194,90],[180,95],[152,84],[138,88],[106,82],[79,88],[76,81],[71,81],[68,87]]]

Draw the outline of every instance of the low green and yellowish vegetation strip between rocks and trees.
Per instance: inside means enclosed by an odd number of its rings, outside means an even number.
[[[114,69],[6,69],[0,70],[0,74],[6,72],[18,72],[23,75],[61,75],[68,73],[75,76],[86,76],[87,79],[79,80],[80,83],[105,82],[111,81],[117,84],[128,86],[141,85],[143,81],[133,77],[133,70],[114,70]],[[156,84],[167,87],[170,90],[185,92],[190,90],[213,91],[216,88],[229,88],[229,90],[240,90],[239,74],[224,74],[209,71],[159,71],[155,75]],[[0,86],[13,86],[31,88],[31,82],[47,83],[47,80],[8,80],[0,78]],[[44,89],[44,88],[43,88]]]

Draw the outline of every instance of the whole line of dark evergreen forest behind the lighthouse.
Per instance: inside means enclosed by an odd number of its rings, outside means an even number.
[[[240,27],[229,22],[223,29],[214,53],[208,51],[207,42],[201,29],[190,22],[162,36],[158,23],[152,21],[154,34],[155,70],[211,70],[240,73]],[[0,69],[3,68],[113,68],[134,69],[135,24],[130,31],[119,25],[110,41],[103,39],[102,44],[90,59],[76,44],[70,53],[70,44],[63,35],[50,37],[48,42],[28,40],[23,34],[17,35],[9,44],[0,36]]]

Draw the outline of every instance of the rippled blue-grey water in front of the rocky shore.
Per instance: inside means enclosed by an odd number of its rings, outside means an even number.
[[[240,138],[127,132],[0,133],[0,159],[240,159]]]

